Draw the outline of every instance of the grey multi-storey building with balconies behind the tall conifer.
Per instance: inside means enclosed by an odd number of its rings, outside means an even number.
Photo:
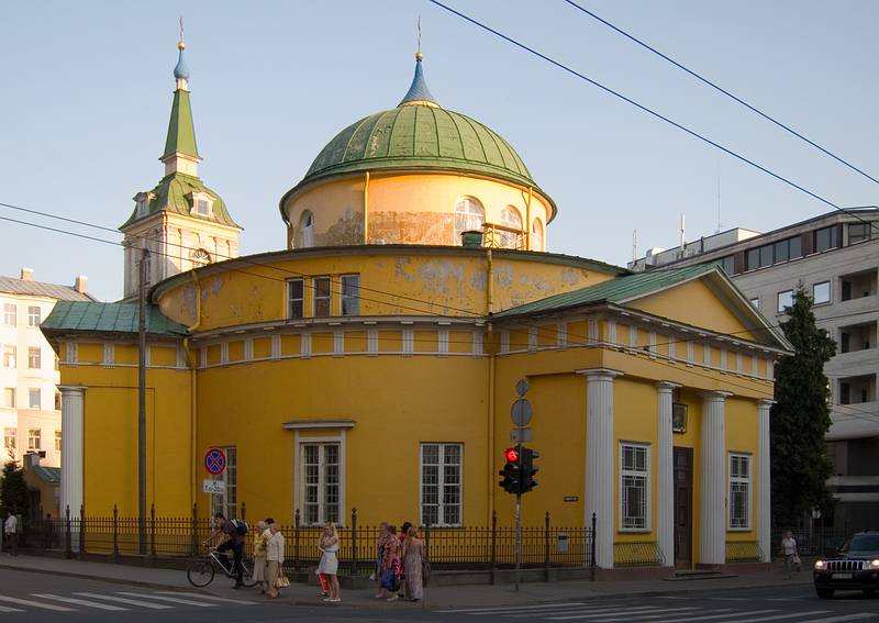
[[[838,500],[834,525],[879,525],[879,209],[834,211],[759,234],[730,230],[670,249],[654,248],[633,270],[716,262],[774,324],[802,282],[819,326],[836,340],[824,368],[833,425],[826,435],[834,460],[828,485]]]

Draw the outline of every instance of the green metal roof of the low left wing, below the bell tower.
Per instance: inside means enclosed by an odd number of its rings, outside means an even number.
[[[138,322],[136,303],[58,301],[40,329],[46,334],[71,331],[136,334]],[[188,334],[186,326],[174,322],[152,304],[146,308],[146,332],[170,337]]]

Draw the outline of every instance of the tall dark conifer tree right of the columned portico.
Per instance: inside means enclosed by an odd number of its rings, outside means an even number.
[[[812,507],[827,508],[826,490],[833,464],[824,434],[831,426],[830,392],[824,364],[836,354],[836,342],[815,325],[812,299],[797,287],[789,320],[781,323],[793,355],[776,366],[776,403],[771,412],[772,516],[792,526]]]

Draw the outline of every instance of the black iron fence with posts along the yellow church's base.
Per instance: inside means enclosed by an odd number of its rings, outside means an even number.
[[[238,515],[246,518],[242,504]],[[591,525],[559,526],[544,515],[543,525],[522,527],[522,558],[525,568],[593,567],[596,519]],[[425,557],[434,569],[503,569],[515,565],[515,529],[498,525],[497,513],[488,526],[431,526],[419,529],[424,539]],[[190,516],[168,518],[122,516],[116,507],[110,515],[89,515],[80,508],[79,515],[65,510],[63,518],[31,521],[22,531],[23,545],[36,549],[63,550],[69,557],[103,554],[115,559],[123,556],[153,558],[191,558],[204,550],[203,543],[213,532],[210,518],[199,516],[192,507]],[[316,565],[318,542],[322,526],[307,525],[297,510],[292,525],[281,525],[285,538],[285,568],[290,572],[305,571]],[[358,522],[353,509],[348,525],[338,527],[341,537],[338,559],[343,570],[368,575],[378,559],[378,526]],[[253,547],[254,534],[246,538],[246,550]]]

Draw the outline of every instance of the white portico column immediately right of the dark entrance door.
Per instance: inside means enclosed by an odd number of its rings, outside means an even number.
[[[726,391],[702,394],[699,563],[726,561]]]

